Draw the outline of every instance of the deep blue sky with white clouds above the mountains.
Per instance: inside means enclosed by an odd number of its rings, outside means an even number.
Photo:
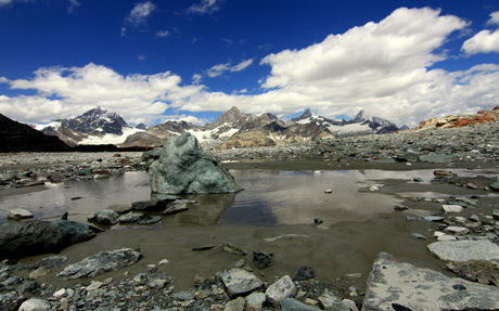
[[[497,0],[0,0],[0,113],[133,126],[499,105]]]

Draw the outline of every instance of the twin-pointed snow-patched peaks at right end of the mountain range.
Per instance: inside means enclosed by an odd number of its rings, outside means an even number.
[[[398,131],[398,127],[388,120],[380,117],[371,117],[363,109],[350,120],[332,120],[321,116],[314,116],[310,109],[306,109],[299,117],[291,119],[292,122],[314,122],[328,129],[336,137],[353,137],[364,134],[383,134]]]

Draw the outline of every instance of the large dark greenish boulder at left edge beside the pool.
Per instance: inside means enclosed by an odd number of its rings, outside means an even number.
[[[0,226],[0,257],[21,258],[59,252],[94,236],[88,224],[68,220],[5,223]]]

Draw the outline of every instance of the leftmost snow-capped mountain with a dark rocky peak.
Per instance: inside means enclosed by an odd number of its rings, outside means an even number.
[[[56,135],[71,146],[78,144],[119,144],[127,137],[141,131],[131,128],[116,113],[97,107],[71,119],[36,126],[44,134]]]

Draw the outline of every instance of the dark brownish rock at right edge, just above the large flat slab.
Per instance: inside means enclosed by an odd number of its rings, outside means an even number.
[[[446,268],[458,276],[485,285],[499,286],[499,265],[487,260],[452,261]]]

